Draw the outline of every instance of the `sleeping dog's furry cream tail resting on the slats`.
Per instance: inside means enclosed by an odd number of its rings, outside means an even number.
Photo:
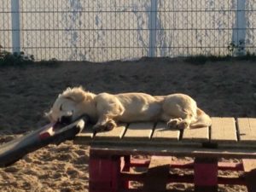
[[[190,124],[190,128],[201,128],[212,125],[212,119],[200,108],[196,110],[195,122]]]

